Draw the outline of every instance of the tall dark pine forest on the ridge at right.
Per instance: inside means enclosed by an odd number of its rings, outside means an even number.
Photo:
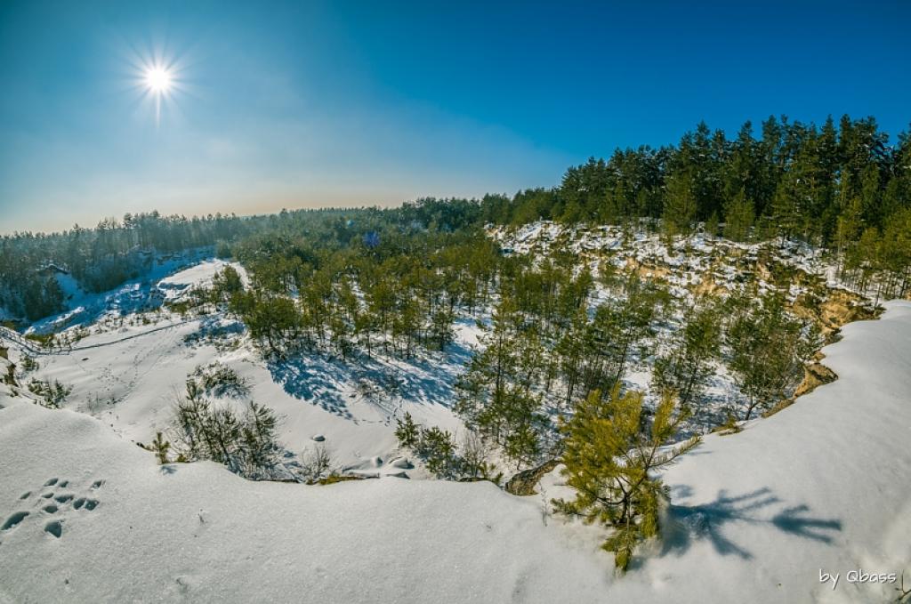
[[[491,203],[485,219],[524,223],[615,223],[663,218],[679,230],[694,221],[725,225],[743,239],[796,237],[824,246],[885,230],[911,200],[911,138],[893,146],[873,118],[813,123],[768,118],[734,138],[704,122],[677,146],[617,149],[570,168],[558,188],[532,189]],[[493,200],[491,200],[492,202]]]

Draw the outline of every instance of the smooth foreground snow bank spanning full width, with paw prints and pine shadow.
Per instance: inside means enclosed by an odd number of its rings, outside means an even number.
[[[894,598],[894,584],[852,585],[845,573],[911,576],[911,303],[843,333],[824,350],[838,381],[742,434],[707,437],[670,468],[666,539],[623,578],[611,577],[599,530],[548,517],[542,497],[486,483],[302,486],[209,463],[161,468],[95,419],[6,399],[0,599]],[[548,497],[558,491],[546,485]],[[840,574],[836,589],[821,569]]]

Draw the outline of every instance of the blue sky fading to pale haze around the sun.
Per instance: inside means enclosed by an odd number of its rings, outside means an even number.
[[[701,119],[911,121],[906,0],[435,4],[0,2],[0,232],[511,194]]]

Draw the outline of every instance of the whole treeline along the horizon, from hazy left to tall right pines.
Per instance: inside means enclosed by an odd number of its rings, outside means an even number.
[[[141,275],[151,261],[147,251],[214,245],[228,253],[253,238],[268,257],[270,245],[280,249],[283,241],[304,236],[312,249],[294,255],[312,266],[322,251],[357,248],[371,232],[386,247],[407,245],[415,232],[475,232],[488,223],[541,219],[662,219],[670,233],[703,222],[709,232],[735,241],[801,239],[841,252],[846,281],[903,295],[911,270],[909,206],[911,137],[900,134],[890,145],[873,118],[845,116],[837,125],[830,118],[821,127],[769,118],[758,132],[747,122],[734,137],[701,123],[676,146],[617,149],[607,160],[568,169],[558,187],[512,197],[245,218],[151,212],[102,220],[94,229],[7,235],[0,238],[0,307],[30,321],[61,310],[64,295],[50,265],[68,271],[83,289],[102,292]]]

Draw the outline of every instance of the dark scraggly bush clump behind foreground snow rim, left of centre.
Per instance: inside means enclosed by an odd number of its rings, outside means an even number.
[[[228,466],[231,472],[251,479],[276,474],[279,418],[269,408],[252,401],[243,414],[202,398],[192,380],[188,392],[174,408],[171,428],[175,449],[188,461],[210,459]]]

